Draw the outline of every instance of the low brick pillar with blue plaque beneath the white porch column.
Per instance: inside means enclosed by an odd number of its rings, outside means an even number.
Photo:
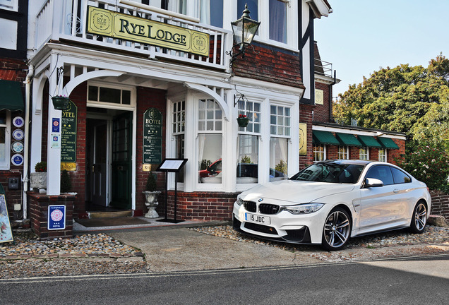
[[[28,210],[30,215],[30,225],[32,231],[40,239],[69,238],[73,237],[73,202],[76,196],[61,194],[47,196],[45,194],[27,192]],[[49,230],[48,229],[48,206],[65,205],[66,206],[66,228]]]

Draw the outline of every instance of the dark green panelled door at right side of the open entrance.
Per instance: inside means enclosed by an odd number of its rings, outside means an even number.
[[[131,209],[131,128],[132,112],[115,116],[112,121],[111,205]]]

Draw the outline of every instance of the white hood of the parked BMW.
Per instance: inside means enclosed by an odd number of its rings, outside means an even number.
[[[295,205],[299,203],[316,202],[337,193],[352,191],[354,184],[333,184],[327,182],[293,181],[283,180],[254,186],[248,191],[241,193],[244,201],[265,200],[285,201],[284,205]]]

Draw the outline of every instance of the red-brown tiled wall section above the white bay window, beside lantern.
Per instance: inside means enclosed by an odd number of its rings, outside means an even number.
[[[265,44],[253,43],[245,57],[232,63],[236,76],[265,80],[296,88],[304,88],[300,74],[299,54]]]

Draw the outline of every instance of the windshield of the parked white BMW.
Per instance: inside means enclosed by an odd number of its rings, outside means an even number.
[[[302,169],[290,180],[354,184],[359,180],[363,169],[364,165],[320,162]]]

